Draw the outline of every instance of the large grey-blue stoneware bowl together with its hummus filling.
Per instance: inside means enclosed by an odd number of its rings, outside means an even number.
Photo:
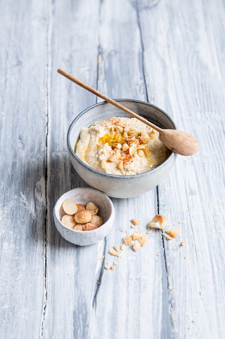
[[[150,103],[116,101],[161,128],[176,129],[172,119]],[[67,147],[81,178],[116,198],[150,191],[170,172],[177,157],[157,131],[105,101],[85,109],[73,120]]]

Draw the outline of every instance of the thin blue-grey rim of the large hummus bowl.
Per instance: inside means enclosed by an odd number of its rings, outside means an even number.
[[[153,108],[156,108],[158,109],[161,113],[163,113],[167,118],[170,119],[170,121],[172,122],[172,124],[174,125],[174,128],[177,129],[177,126],[175,124],[175,122],[173,121],[173,119],[165,112],[163,111],[163,109],[159,108],[158,106],[156,105],[153,105],[149,102],[146,102],[146,101],[142,101],[142,100],[135,100],[135,99],[113,99],[114,101],[132,101],[132,102],[140,102],[140,103],[143,103],[143,104],[146,104],[150,107],[153,107]],[[71,132],[71,129],[73,127],[73,125],[75,124],[75,122],[86,112],[90,111],[90,109],[94,108],[94,107],[97,107],[99,105],[102,105],[104,103],[107,103],[107,101],[101,101],[101,102],[98,102],[90,107],[87,107],[85,108],[81,113],[79,113],[75,118],[74,120],[71,122],[70,124],[70,127],[68,129],[68,132],[67,132],[67,145],[69,146],[69,149],[72,153],[72,155],[75,157],[76,160],[78,160],[78,162],[85,166],[87,169],[93,171],[94,173],[97,173],[98,175],[106,175],[108,177],[113,177],[113,178],[117,178],[117,179],[124,179],[124,177],[129,177],[129,178],[132,178],[132,177],[137,177],[137,176],[141,176],[141,175],[146,175],[147,173],[151,173],[152,171],[156,172],[160,170],[161,167],[163,167],[167,162],[169,162],[169,160],[171,160],[171,158],[177,157],[177,154],[174,153],[174,152],[171,152],[171,154],[169,155],[169,157],[163,162],[161,163],[159,166],[155,167],[155,168],[152,168],[150,169],[149,171],[147,172],[143,172],[143,173],[138,173],[138,174],[132,174],[132,175],[118,175],[118,174],[109,174],[109,173],[105,173],[105,172],[101,172],[101,171],[98,171],[98,169],[95,169],[93,167],[91,167],[90,165],[87,165],[85,162],[83,162],[77,155],[76,153],[74,152],[74,149],[72,148],[71,146],[71,143],[70,143],[70,132]],[[83,232],[83,231],[81,231]]]

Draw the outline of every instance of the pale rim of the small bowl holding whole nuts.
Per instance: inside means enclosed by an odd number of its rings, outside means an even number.
[[[57,217],[55,211],[56,211],[56,205],[58,203],[58,201],[64,196],[66,195],[67,193],[70,193],[72,191],[75,191],[75,190],[87,190],[87,191],[95,191],[95,192],[98,192],[100,195],[102,195],[104,198],[106,198],[106,200],[109,202],[109,205],[111,206],[111,214],[108,218],[108,220],[106,222],[104,222],[104,224],[102,224],[101,226],[95,228],[94,230],[90,230],[90,231],[79,231],[79,230],[74,230],[73,228],[70,228],[66,225],[64,225],[61,220],[59,220],[59,218]],[[69,198],[68,198],[69,199]],[[114,221],[114,218],[115,218],[115,208],[114,208],[114,205],[113,205],[113,202],[111,201],[111,199],[109,199],[109,197],[107,195],[105,195],[104,193],[102,193],[101,191],[99,190],[96,190],[95,188],[91,188],[91,187],[75,187],[73,188],[72,190],[70,191],[67,191],[65,192],[64,194],[62,194],[58,200],[56,201],[55,205],[54,205],[54,209],[53,209],[53,215],[56,217],[56,219],[59,221],[60,225],[63,226],[63,227],[66,227],[68,230],[71,230],[71,231],[74,231],[74,232],[78,232],[78,233],[82,233],[83,235],[85,234],[91,234],[91,233],[94,233],[96,230],[98,230],[98,228],[106,225],[108,222],[113,222]]]

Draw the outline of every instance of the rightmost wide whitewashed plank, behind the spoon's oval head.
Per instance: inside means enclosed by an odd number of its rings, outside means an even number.
[[[224,53],[215,47],[213,30],[224,8],[220,1],[158,2],[153,7],[144,1],[139,9],[149,97],[201,145],[197,155],[179,157],[159,185],[159,211],[168,228],[180,229],[176,240],[164,240],[173,337],[221,338]]]

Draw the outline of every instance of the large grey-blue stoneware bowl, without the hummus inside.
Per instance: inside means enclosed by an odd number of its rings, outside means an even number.
[[[130,99],[116,99],[116,101],[161,128],[176,129],[172,119],[160,108],[150,103]],[[86,165],[74,153],[81,127],[90,127],[94,122],[110,117],[130,118],[121,109],[103,101],[86,108],[71,123],[67,134],[67,148],[75,170],[86,183],[110,197],[131,198],[152,190],[168,175],[176,161],[177,154],[171,152],[164,163],[151,171],[121,176],[97,171]]]

